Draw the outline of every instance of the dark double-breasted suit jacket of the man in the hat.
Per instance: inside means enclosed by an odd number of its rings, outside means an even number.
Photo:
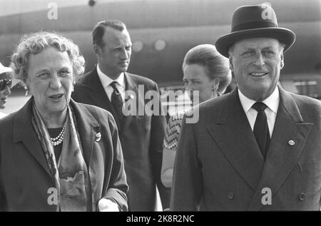
[[[320,210],[321,103],[279,90],[265,161],[237,89],[193,109],[199,120],[183,123],[171,210]]]

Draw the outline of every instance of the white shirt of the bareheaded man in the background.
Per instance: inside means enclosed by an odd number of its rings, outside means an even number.
[[[105,90],[109,98],[109,101],[111,101],[111,94],[113,93],[113,87],[111,87],[111,83],[113,81],[117,82],[116,87],[119,93],[121,93],[121,98],[125,100],[125,76],[123,75],[123,73],[121,73],[121,75],[118,76],[118,78],[113,80],[101,71],[101,69],[99,68],[99,65],[97,65],[97,73],[98,73],[99,79],[101,80],[101,84],[103,85],[103,89]]]

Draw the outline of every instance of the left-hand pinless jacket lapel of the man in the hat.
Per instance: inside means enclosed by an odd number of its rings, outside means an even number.
[[[218,120],[208,126],[208,130],[230,164],[255,191],[263,170],[263,157],[241,106],[238,90],[223,98],[228,100],[220,108]]]

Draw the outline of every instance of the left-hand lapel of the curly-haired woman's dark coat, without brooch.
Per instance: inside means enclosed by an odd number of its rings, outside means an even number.
[[[26,145],[27,150],[34,155],[34,158],[36,158],[42,168],[52,177],[44,151],[41,149],[40,141],[31,123],[32,101],[33,98],[30,98],[26,105],[16,113],[14,118],[14,142],[22,141]]]

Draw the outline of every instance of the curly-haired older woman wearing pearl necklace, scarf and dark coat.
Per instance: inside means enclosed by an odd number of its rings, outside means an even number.
[[[32,96],[0,122],[0,210],[127,210],[115,120],[71,99],[84,71],[78,46],[59,34],[31,34],[11,61]]]

